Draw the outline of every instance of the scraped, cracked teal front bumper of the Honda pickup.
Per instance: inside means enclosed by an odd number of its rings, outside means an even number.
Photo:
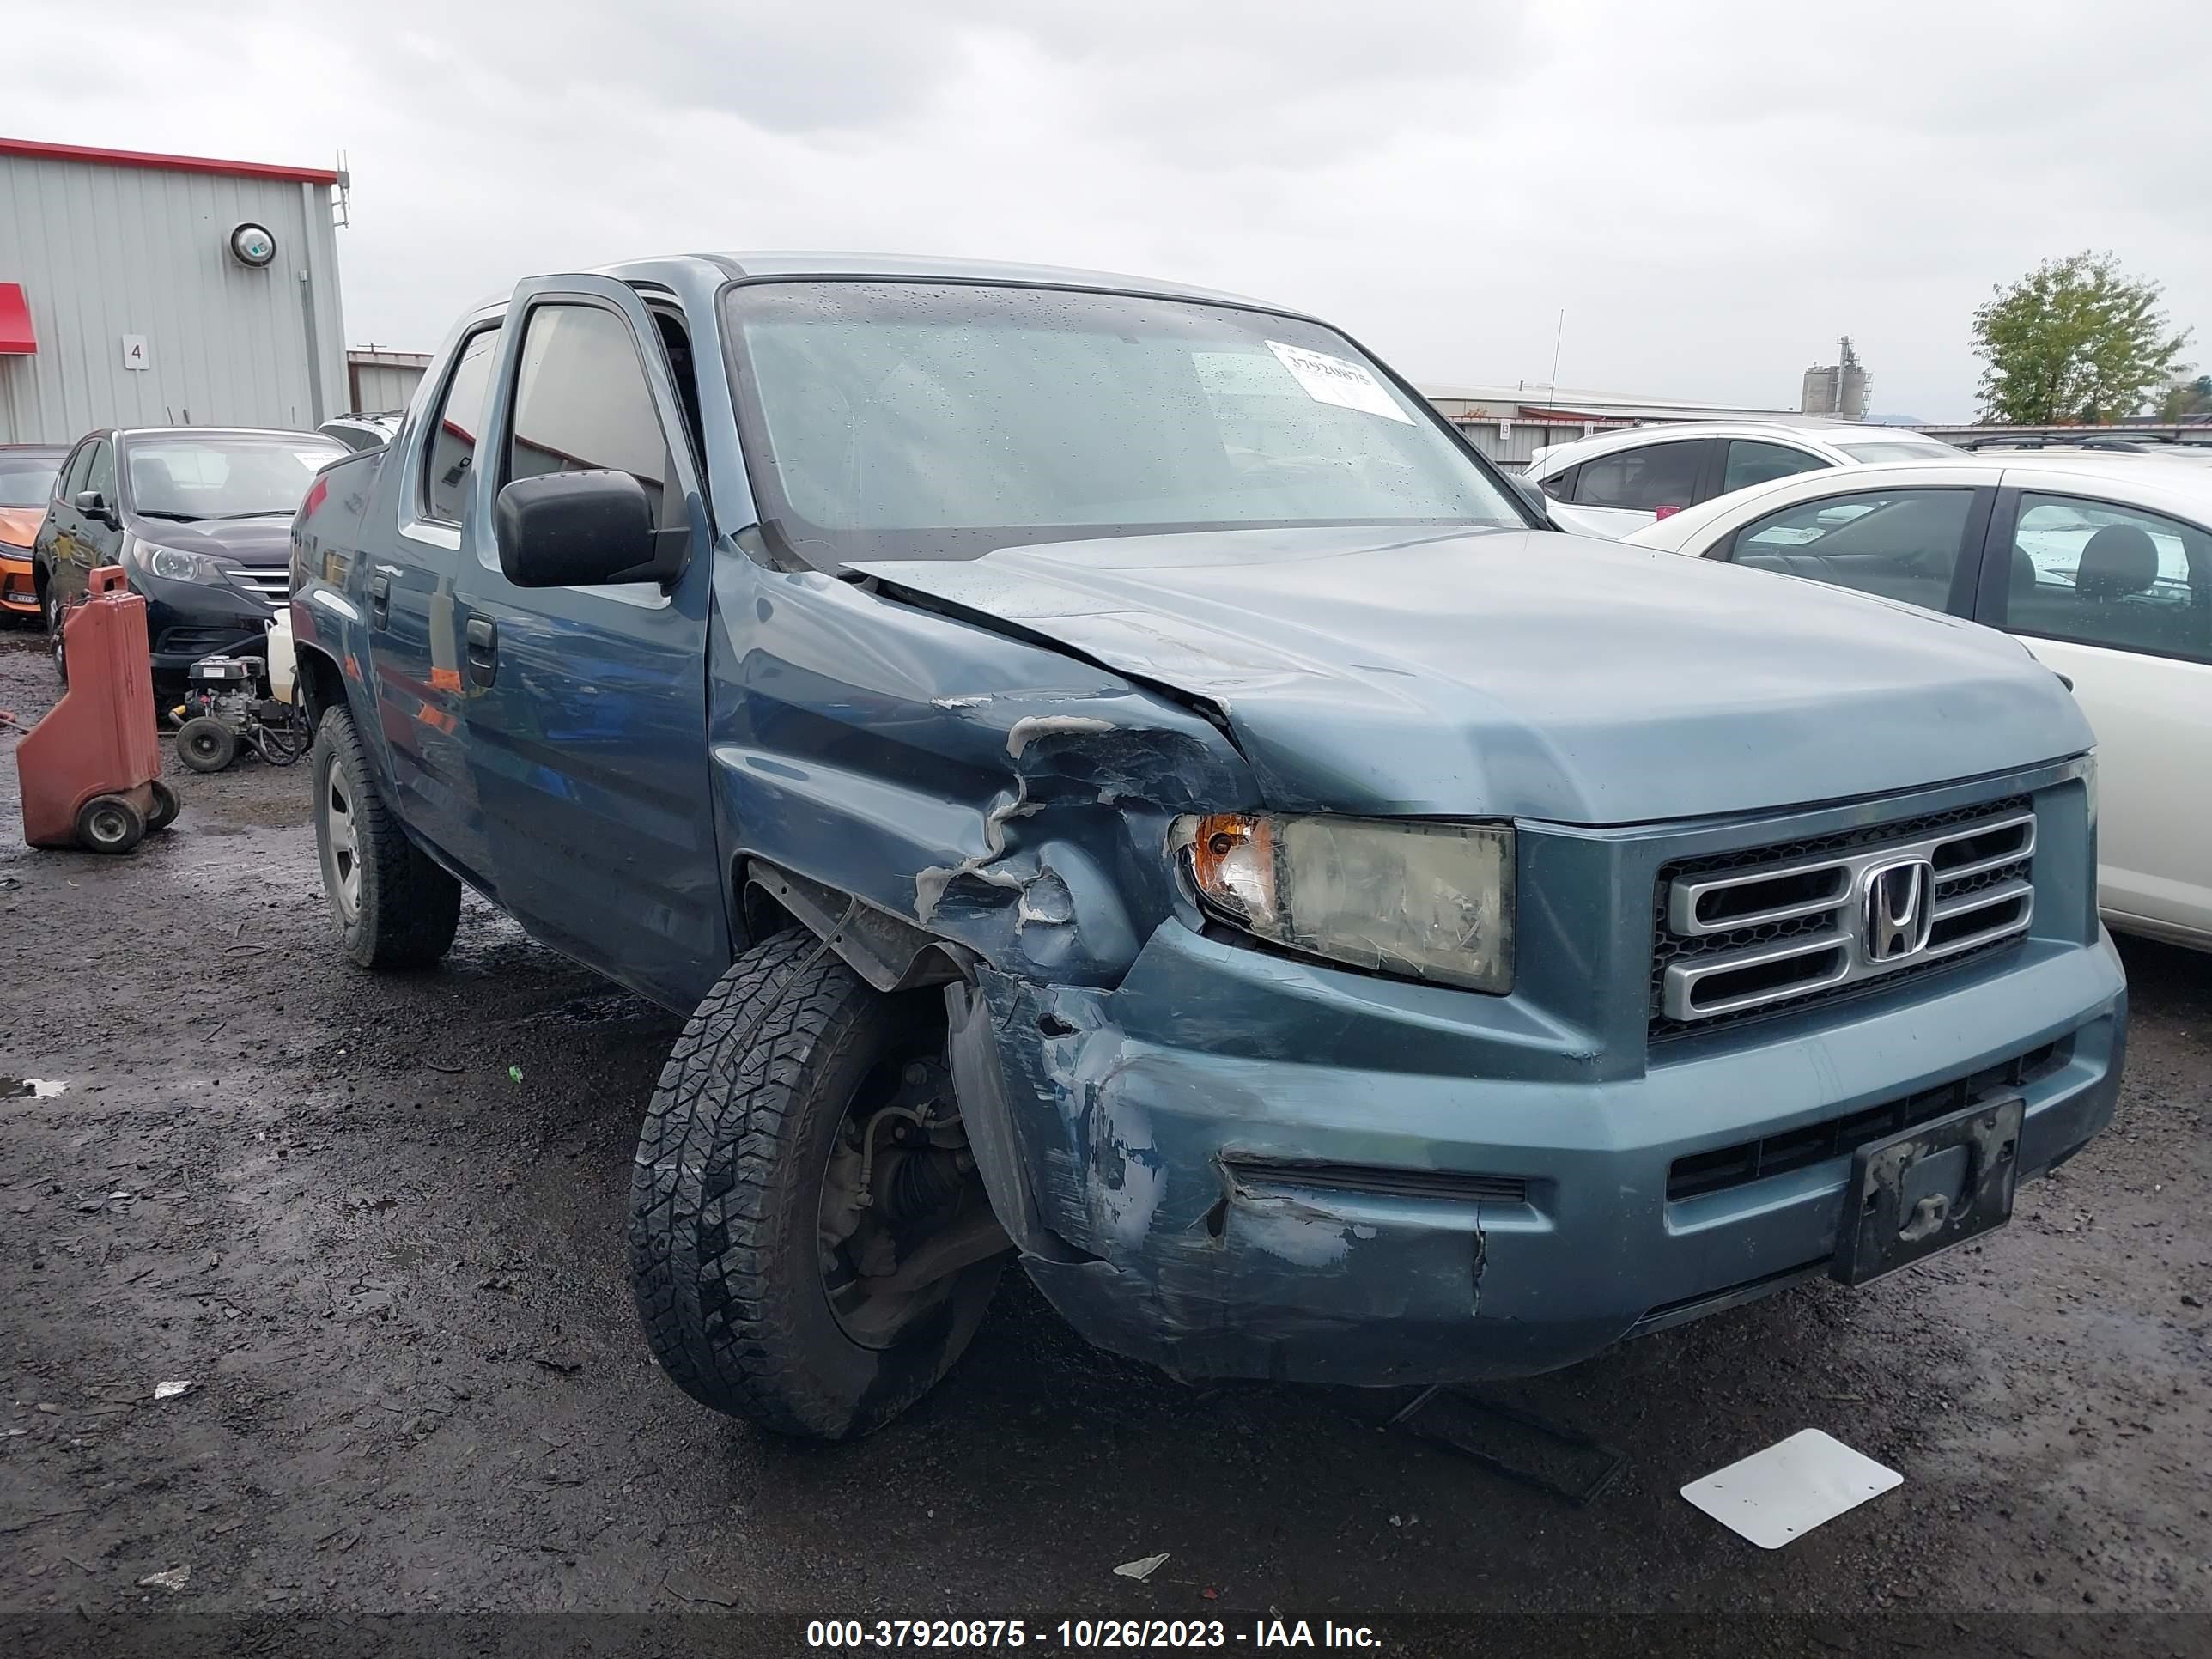
[[[1000,1095],[969,1113],[993,1201],[1084,1336],[1181,1376],[1383,1385],[1573,1365],[1825,1270],[1847,1150],[1670,1199],[1683,1157],[2035,1055],[2022,1175],[2046,1172],[2110,1121],[2126,984],[2110,938],[2033,938],[1621,1073],[1513,1000],[1166,922],[1115,991],[987,975],[953,1026],[962,1099]]]

